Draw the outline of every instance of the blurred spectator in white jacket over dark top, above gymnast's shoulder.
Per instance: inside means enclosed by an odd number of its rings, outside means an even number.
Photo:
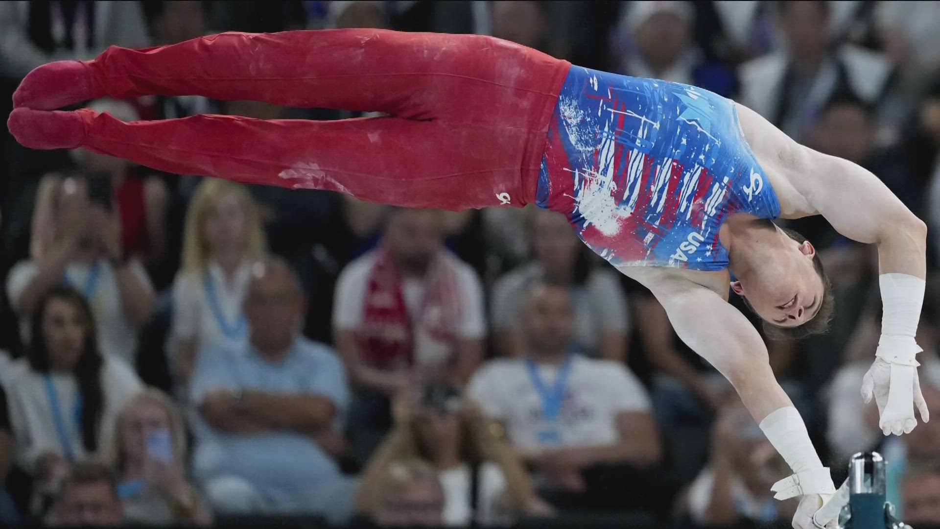
[[[829,30],[829,2],[777,2],[781,50],[741,65],[741,103],[797,141],[834,93],[852,92],[874,104],[892,67],[883,55],[838,46]]]

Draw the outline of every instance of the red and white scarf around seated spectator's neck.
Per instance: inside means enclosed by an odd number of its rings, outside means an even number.
[[[415,361],[417,329],[432,339],[453,345],[461,319],[457,258],[441,250],[423,278],[424,296],[417,313],[405,303],[398,264],[387,248],[378,248],[368,276],[359,333],[363,360],[379,369],[399,369]]]

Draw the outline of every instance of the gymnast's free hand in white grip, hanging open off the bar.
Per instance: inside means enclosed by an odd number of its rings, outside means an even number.
[[[920,350],[913,338],[882,335],[876,353],[878,358],[862,378],[862,398],[868,404],[871,397],[875,397],[881,417],[878,425],[885,435],[901,435],[914,429],[917,425],[914,405],[920,411],[920,418],[925,423],[930,421],[930,412],[917,379],[918,364],[914,360],[914,355]]]

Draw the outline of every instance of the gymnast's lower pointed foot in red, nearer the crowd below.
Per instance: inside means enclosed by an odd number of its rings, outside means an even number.
[[[30,149],[74,149],[85,140],[85,122],[78,112],[14,108],[7,128]]]

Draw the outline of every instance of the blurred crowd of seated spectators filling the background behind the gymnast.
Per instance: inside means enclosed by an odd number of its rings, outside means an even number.
[[[931,226],[936,270],[940,2],[0,2],[0,115],[48,61],[331,27],[493,35],[734,98],[878,175]],[[84,106],[358,116],[199,96]],[[791,520],[770,492],[790,471],[729,384],[563,216],[390,208],[2,134],[0,525]],[[940,421],[885,438],[859,393],[876,253],[821,217],[786,225],[819,248],[838,305],[826,335],[767,340],[776,376],[837,483],[877,449],[901,518],[940,524]],[[933,417],[938,288],[917,336]]]

